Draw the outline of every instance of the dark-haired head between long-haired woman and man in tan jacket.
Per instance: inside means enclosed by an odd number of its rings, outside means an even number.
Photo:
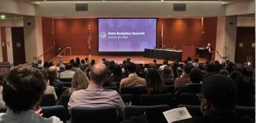
[[[161,71],[161,79],[164,84],[173,85],[174,84],[174,74],[173,68],[166,66],[163,71]]]

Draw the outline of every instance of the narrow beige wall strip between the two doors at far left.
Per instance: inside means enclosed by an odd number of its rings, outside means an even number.
[[[11,27],[6,27],[7,61],[13,64],[13,39]]]

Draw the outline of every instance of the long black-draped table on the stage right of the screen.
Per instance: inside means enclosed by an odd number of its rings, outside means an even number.
[[[144,49],[144,57],[162,60],[182,60],[182,50]]]

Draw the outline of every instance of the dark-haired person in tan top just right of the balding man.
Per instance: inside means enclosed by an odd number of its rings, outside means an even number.
[[[146,80],[140,78],[136,74],[136,64],[129,62],[126,64],[126,69],[128,71],[128,78],[123,78],[120,82],[120,87],[135,87],[146,85]]]

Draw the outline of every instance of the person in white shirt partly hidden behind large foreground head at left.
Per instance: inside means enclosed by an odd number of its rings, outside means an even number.
[[[42,69],[40,71],[43,74],[44,81],[46,82],[46,90],[44,91],[44,94],[54,95],[54,99],[55,99],[55,101],[57,101],[58,96],[56,95],[54,87],[50,85],[50,81],[48,79],[48,74],[46,73],[46,71],[43,71]]]

